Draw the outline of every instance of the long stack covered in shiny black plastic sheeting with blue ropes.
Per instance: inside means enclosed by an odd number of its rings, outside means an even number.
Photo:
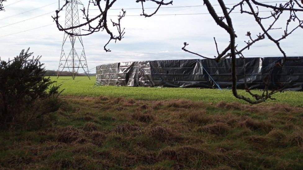
[[[300,59],[302,57],[290,57]],[[281,57],[237,59],[238,89],[244,89],[244,71],[251,89],[264,89],[270,68],[281,63]],[[103,64],[96,67],[97,85],[145,87],[227,88],[231,82],[231,59],[220,62],[210,59],[155,60]],[[303,59],[274,67],[269,87],[303,90]]]

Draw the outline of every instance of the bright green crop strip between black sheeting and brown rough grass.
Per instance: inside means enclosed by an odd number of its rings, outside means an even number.
[[[125,87],[125,86],[96,86],[95,77],[91,80],[88,77],[76,77],[75,80],[70,77],[61,76],[58,80],[56,76],[51,77],[61,88],[65,89],[63,95],[75,96],[100,96],[107,95],[113,97],[134,98],[140,100],[168,100],[168,99],[189,99],[194,101],[203,101],[207,103],[240,102],[236,99],[231,90],[223,89],[198,89],[198,88],[157,88],[157,87]],[[256,93],[260,91],[254,90]],[[239,90],[242,95],[247,95],[244,90]],[[247,95],[248,96],[248,95]],[[268,100],[267,103],[287,103],[292,106],[303,106],[303,92],[285,91],[274,95],[276,100]]]

